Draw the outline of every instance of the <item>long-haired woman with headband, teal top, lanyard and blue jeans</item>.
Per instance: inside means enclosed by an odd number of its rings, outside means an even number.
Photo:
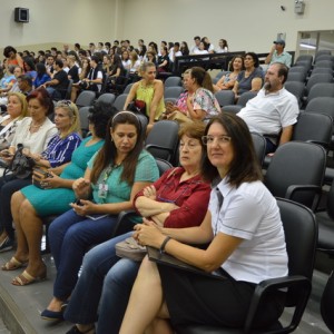
[[[49,227],[58,272],[53,298],[41,313],[42,317],[52,317],[53,305],[61,305],[71,295],[89,247],[109,239],[117,215],[132,208],[135,195],[158,178],[154,157],[143,149],[137,116],[131,111],[118,112],[109,120],[108,128],[105,145],[88,163],[85,177],[73,183],[80,205],[71,204],[73,209]]]

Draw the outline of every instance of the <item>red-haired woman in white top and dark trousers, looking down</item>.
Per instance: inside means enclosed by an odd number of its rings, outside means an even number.
[[[27,76],[30,80],[31,78]],[[0,151],[0,157],[11,163],[17,150],[17,145],[23,145],[23,154],[36,158],[36,163],[43,161],[40,154],[48,148],[51,138],[57,134],[55,124],[48,118],[53,112],[53,102],[46,89],[33,90],[28,97],[28,112],[30,117],[24,117],[17,127],[10,147]],[[53,158],[51,155],[48,156]],[[7,247],[13,245],[12,217],[10,213],[11,195],[22,187],[31,184],[31,177],[18,179],[13,175],[0,178],[0,230],[2,232],[0,243],[8,238]],[[10,249],[10,248],[9,248]]]

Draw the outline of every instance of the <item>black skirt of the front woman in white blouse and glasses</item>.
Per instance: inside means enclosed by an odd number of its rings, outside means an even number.
[[[174,326],[244,326],[255,284],[235,281],[224,271],[224,278],[217,279],[165,265],[158,265],[158,269]],[[281,296],[268,296],[262,304],[255,327],[277,322],[283,304]]]

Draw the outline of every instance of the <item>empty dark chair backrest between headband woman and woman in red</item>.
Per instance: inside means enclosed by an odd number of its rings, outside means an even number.
[[[178,122],[159,120],[148,132],[145,146],[155,157],[174,164],[178,146]]]

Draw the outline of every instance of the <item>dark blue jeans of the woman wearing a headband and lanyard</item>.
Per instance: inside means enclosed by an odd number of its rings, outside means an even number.
[[[70,209],[51,223],[48,236],[57,267],[55,297],[66,301],[71,295],[85,253],[109,239],[116,222],[117,216],[92,220]]]

